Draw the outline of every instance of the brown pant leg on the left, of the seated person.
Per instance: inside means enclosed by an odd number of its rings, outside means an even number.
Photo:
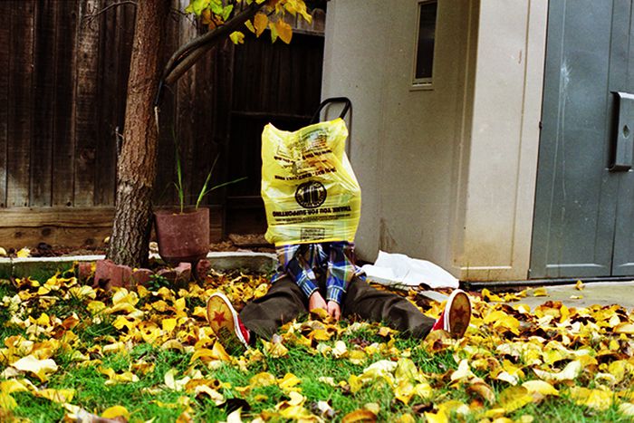
[[[240,312],[240,319],[247,329],[269,340],[280,326],[305,312],[308,312],[306,296],[299,286],[286,276],[275,281],[264,297],[246,304]]]

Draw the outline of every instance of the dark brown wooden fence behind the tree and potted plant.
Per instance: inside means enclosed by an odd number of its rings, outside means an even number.
[[[2,246],[99,245],[110,232],[135,15],[134,5],[109,7],[115,3],[0,2]],[[173,0],[175,11],[187,3]],[[302,125],[319,103],[324,14],[314,15],[310,27],[295,24],[291,45],[264,36],[223,43],[168,91],[155,205],[176,202],[175,140],[187,197],[195,197],[218,155],[216,181],[248,177],[209,198],[214,239],[226,228],[227,198],[257,197],[262,126]],[[164,60],[197,26],[174,12],[167,31]]]

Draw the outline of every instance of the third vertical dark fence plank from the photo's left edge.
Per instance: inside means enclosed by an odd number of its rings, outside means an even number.
[[[40,0],[35,7],[31,207],[48,207],[52,204],[56,3],[53,0]]]

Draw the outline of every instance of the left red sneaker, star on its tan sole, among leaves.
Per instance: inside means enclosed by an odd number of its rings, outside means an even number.
[[[212,293],[207,300],[207,321],[227,352],[235,354],[246,350],[251,333],[224,293]]]

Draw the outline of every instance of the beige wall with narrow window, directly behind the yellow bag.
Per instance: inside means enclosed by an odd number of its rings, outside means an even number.
[[[418,1],[328,5],[322,98],[353,102],[361,258],[373,261],[380,248],[453,263],[471,3],[439,2],[432,90],[411,89]]]

